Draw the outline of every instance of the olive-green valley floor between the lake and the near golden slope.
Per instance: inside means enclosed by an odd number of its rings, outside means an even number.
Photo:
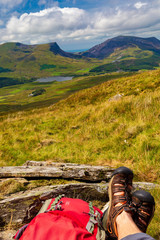
[[[79,90],[129,75],[133,75],[133,73],[112,73],[100,76],[76,77],[64,82],[30,82],[3,87],[0,88],[0,115],[50,106]],[[38,89],[44,89],[45,92],[35,97],[29,96]]]

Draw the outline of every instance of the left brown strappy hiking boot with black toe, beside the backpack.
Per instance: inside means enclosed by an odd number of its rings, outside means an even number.
[[[117,238],[116,217],[123,211],[130,212],[133,172],[126,167],[117,168],[109,182],[109,208],[107,212],[107,235]]]

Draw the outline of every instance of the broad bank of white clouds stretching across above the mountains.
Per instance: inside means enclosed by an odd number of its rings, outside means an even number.
[[[139,2],[139,11],[133,5],[127,10],[119,6],[115,11],[103,9],[95,12],[54,6],[36,13],[24,13],[20,17],[12,17],[6,27],[0,29],[0,42],[37,44],[70,41],[75,44],[95,39],[101,42],[108,36],[122,34],[160,38],[160,0],[155,0],[155,3],[155,6],[148,4],[140,8]]]

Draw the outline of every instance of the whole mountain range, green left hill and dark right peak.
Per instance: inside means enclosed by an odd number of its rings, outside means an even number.
[[[0,87],[55,75],[90,75],[155,69],[160,41],[155,37],[118,36],[79,53],[62,50],[56,42],[40,45],[0,45]]]

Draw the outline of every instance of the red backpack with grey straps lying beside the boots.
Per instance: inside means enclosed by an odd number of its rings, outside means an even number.
[[[91,202],[88,204],[81,199],[61,195],[53,198],[47,210],[18,231],[14,239],[96,240],[101,217],[102,212]]]

